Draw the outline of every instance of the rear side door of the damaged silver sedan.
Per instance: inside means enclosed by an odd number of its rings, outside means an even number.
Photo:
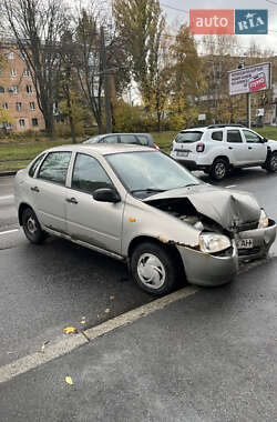
[[[66,233],[65,182],[71,155],[70,151],[49,152],[30,185],[39,221],[61,233]]]

